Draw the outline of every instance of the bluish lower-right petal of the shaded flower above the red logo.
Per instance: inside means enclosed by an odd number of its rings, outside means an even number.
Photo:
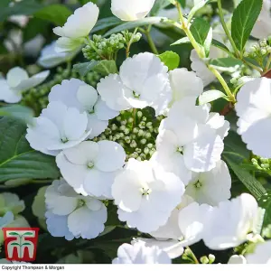
[[[107,208],[103,205],[100,210],[89,210],[87,206],[75,210],[68,217],[70,232],[81,238],[97,238],[98,234],[105,229],[107,221]]]

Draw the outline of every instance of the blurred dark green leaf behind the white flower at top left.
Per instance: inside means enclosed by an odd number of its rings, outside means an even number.
[[[72,14],[70,9],[65,5],[54,4],[44,6],[34,14],[35,17],[49,21],[55,25],[62,26],[66,23],[67,18]]]

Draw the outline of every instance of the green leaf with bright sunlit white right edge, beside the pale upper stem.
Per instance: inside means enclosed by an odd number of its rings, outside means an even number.
[[[201,18],[196,18],[193,21],[190,30],[196,42],[204,48],[205,55],[208,57],[212,41],[212,28],[210,27],[210,23]]]

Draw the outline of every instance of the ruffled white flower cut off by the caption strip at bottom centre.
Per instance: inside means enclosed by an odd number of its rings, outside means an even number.
[[[121,245],[112,264],[171,264],[171,259],[157,247],[148,248],[145,247],[144,242],[135,242],[133,245]]]

